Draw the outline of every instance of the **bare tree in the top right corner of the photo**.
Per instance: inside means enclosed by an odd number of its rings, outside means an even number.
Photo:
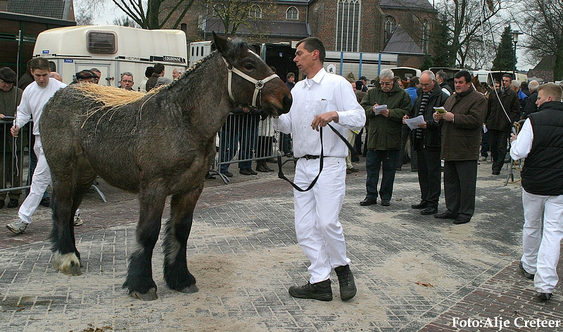
[[[521,44],[538,59],[555,58],[554,78],[563,79],[563,0],[526,0],[517,20],[526,38]]]

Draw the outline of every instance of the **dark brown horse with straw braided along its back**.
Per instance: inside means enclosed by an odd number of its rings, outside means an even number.
[[[198,291],[186,262],[194,208],[203,190],[215,135],[237,106],[277,117],[288,113],[284,82],[240,39],[213,34],[216,50],[169,85],[143,94],[97,84],[57,91],[39,121],[51,169],[55,269],[82,274],[73,218],[96,177],[137,193],[137,249],[123,288],[132,298],[156,300],[152,253],[167,196],[170,219],[163,239],[164,279],[182,293]]]

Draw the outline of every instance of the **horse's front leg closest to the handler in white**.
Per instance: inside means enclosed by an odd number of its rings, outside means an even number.
[[[196,190],[172,195],[170,220],[166,222],[164,250],[164,279],[168,287],[182,293],[196,293],[196,278],[188,271],[186,246],[194,220],[194,208],[203,190],[203,184]]]

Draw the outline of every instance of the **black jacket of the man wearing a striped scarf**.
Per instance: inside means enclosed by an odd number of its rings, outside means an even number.
[[[417,117],[420,109],[420,104],[422,103],[422,94],[424,91],[418,89],[417,98],[415,99],[415,104],[412,106],[408,116],[410,118]],[[442,91],[438,84],[434,84],[434,89],[430,92],[430,97],[426,108],[424,109],[424,120],[426,120],[426,129],[422,129],[422,143],[424,147],[429,148],[440,148],[441,147],[441,127],[438,122],[434,121],[432,115],[436,112],[434,107],[444,106],[445,101],[448,99],[448,95]],[[415,143],[415,148],[419,146],[417,140],[417,129],[411,130],[411,139]]]

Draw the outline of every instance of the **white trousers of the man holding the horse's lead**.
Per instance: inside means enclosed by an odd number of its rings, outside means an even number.
[[[293,180],[306,189],[319,173],[320,159],[299,159]],[[293,189],[295,231],[310,260],[310,283],[329,279],[331,269],[350,264],[339,213],[346,193],[344,158],[324,158],[319,179],[310,191]]]

